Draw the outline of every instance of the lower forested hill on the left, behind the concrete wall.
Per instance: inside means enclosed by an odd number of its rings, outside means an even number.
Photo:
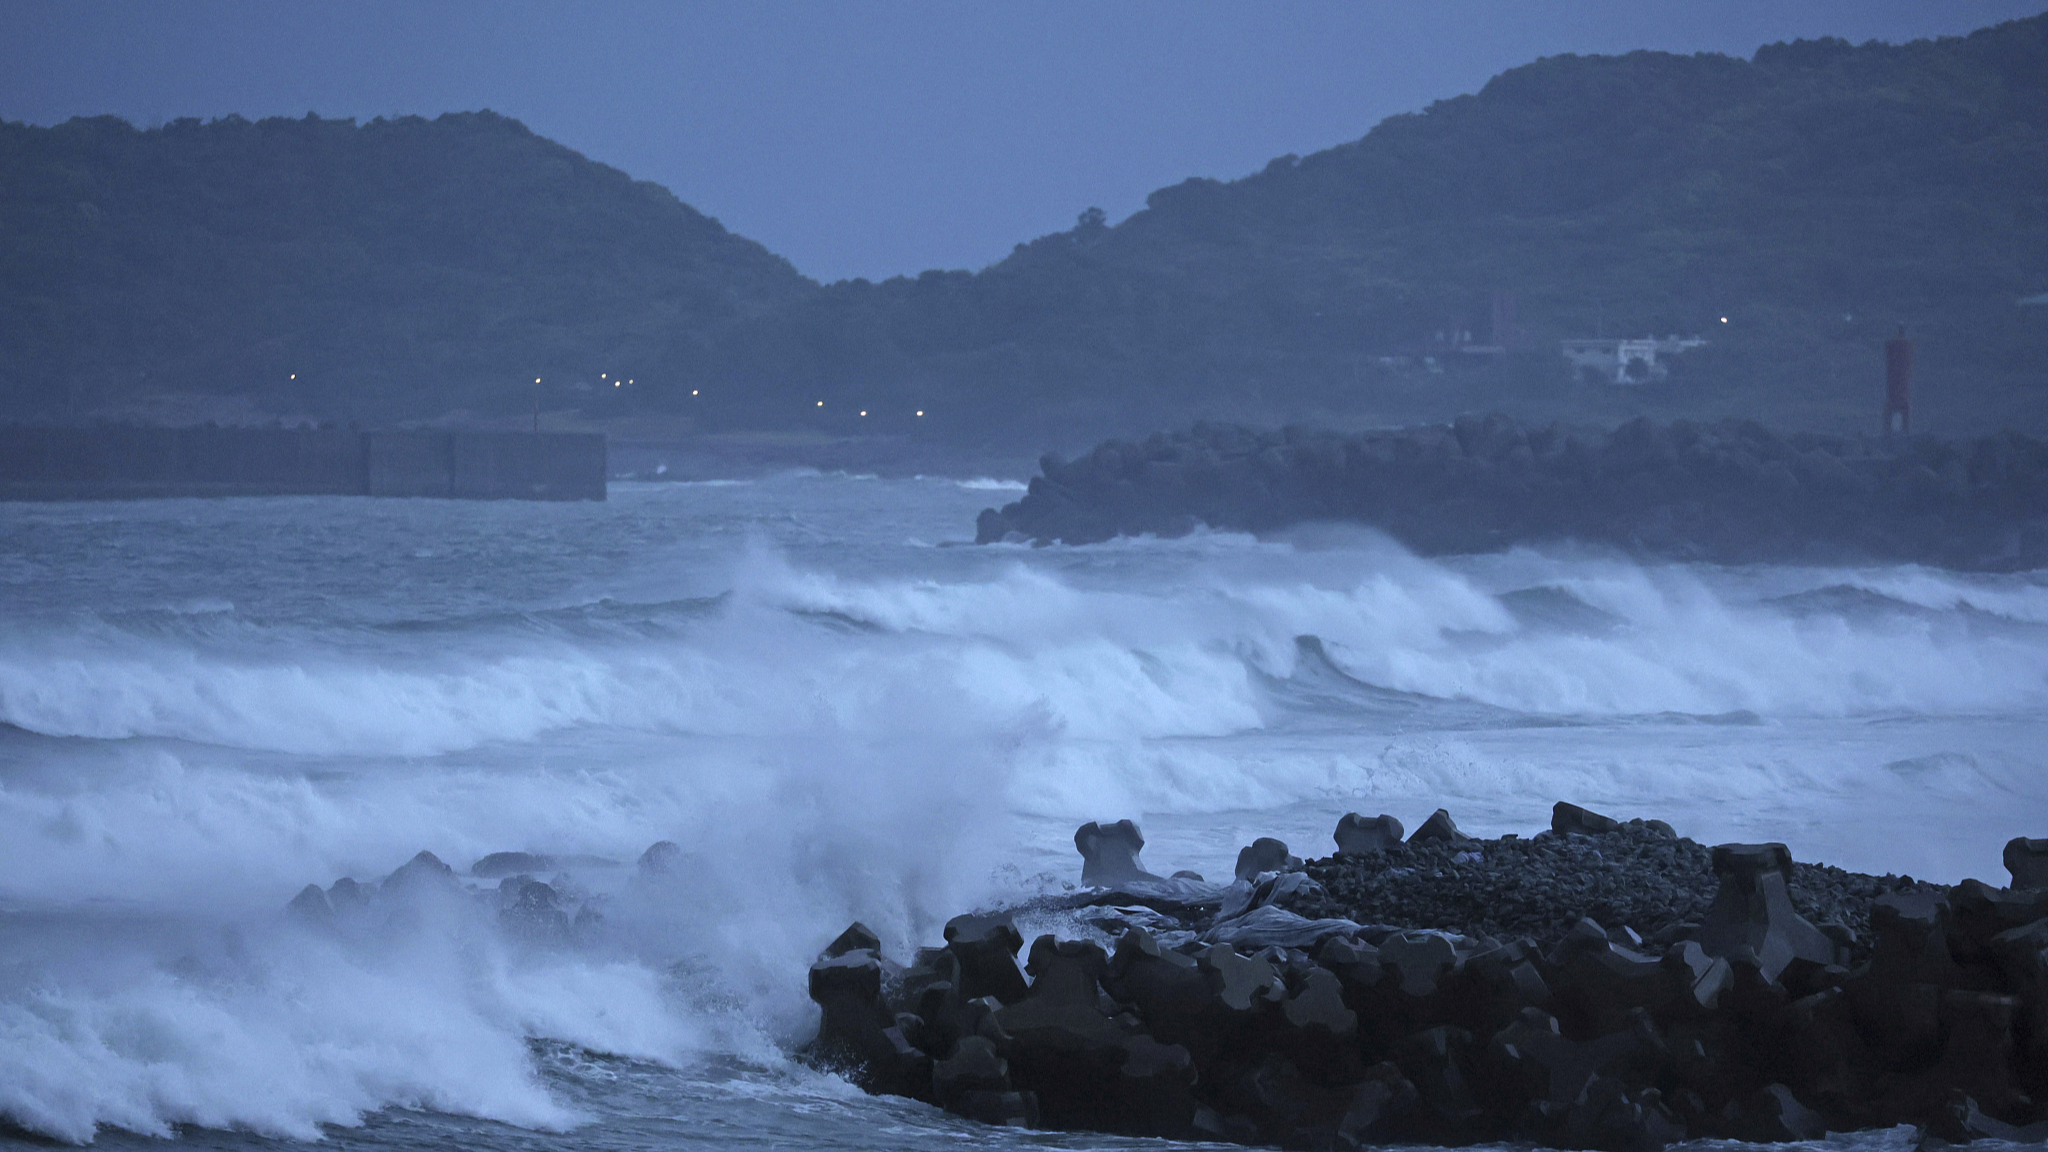
[[[0,418],[518,410],[535,377],[633,373],[815,291],[494,113],[0,123]]]

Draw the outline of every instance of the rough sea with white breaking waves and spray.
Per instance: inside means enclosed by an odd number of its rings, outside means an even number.
[[[1323,855],[1350,810],[1528,834],[1575,799],[1946,881],[2048,830],[2040,574],[1438,562],[1358,529],[958,547],[1004,498],[0,506],[0,1113],[102,1144],[1016,1146],[786,1052],[848,920],[907,955],[1075,881],[1083,820],[1208,875],[1260,834]],[[680,875],[633,867],[659,838]],[[422,849],[549,853],[604,916],[283,912]]]

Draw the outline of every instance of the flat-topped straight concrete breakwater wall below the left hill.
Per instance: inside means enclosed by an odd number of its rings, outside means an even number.
[[[352,428],[0,428],[0,498],[602,500],[604,437]]]

